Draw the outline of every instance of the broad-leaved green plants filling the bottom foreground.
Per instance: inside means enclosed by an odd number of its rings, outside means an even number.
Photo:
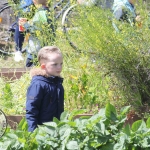
[[[81,112],[64,112],[60,121],[54,118],[53,122],[40,125],[32,133],[27,131],[27,123],[23,119],[17,130],[7,130],[0,139],[0,149],[148,150],[150,118],[147,122],[136,121],[131,127],[128,124],[124,126],[128,110],[128,106],[122,108],[118,115],[115,107],[108,103],[89,118],[73,119]]]

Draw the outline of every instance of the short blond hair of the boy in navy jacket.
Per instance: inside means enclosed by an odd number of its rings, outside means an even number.
[[[45,46],[41,48],[38,52],[38,61],[40,64],[47,62],[48,56],[50,53],[58,53],[61,54],[60,49],[57,46]]]

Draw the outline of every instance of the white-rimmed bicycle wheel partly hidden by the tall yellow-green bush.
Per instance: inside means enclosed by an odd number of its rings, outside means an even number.
[[[77,4],[69,7],[63,14],[62,26],[67,41],[75,50],[81,51],[80,37],[81,8]],[[80,45],[80,46],[79,46]],[[80,48],[79,48],[80,47]]]

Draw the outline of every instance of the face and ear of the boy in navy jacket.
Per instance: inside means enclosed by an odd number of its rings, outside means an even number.
[[[48,56],[49,61],[43,63],[41,68],[46,71],[49,76],[60,76],[63,65],[63,57],[59,53],[51,53]]]

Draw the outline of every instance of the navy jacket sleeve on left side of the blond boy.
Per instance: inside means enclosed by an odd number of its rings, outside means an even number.
[[[32,83],[27,90],[26,97],[26,119],[28,131],[32,132],[38,125],[38,117],[44,92],[42,86]]]

